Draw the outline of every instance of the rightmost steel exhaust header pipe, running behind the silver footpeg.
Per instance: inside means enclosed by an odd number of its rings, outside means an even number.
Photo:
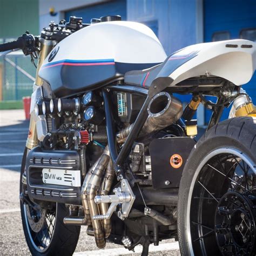
[[[113,179],[114,179],[114,169],[113,169],[112,160],[110,159],[109,164],[107,165],[107,169],[105,172],[102,185],[100,186],[100,191],[99,191],[100,196],[106,196],[107,194],[109,194],[112,183],[113,183]],[[107,203],[99,204],[99,209],[100,209],[100,214],[105,215],[107,213],[107,210],[109,210],[109,204]],[[104,219],[103,226],[104,226],[105,238],[108,238],[111,233],[111,220]]]

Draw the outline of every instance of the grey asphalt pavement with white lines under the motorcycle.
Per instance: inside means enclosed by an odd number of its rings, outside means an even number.
[[[0,255],[30,255],[26,246],[19,210],[19,173],[28,134],[29,122],[23,110],[0,110]],[[123,246],[108,243],[98,250],[93,237],[82,226],[74,255],[140,255]],[[173,239],[150,246],[149,255],[180,255],[178,243]]]

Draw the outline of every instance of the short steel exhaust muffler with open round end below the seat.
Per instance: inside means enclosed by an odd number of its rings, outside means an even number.
[[[154,96],[147,108],[149,117],[139,133],[139,137],[150,134],[154,131],[164,129],[176,122],[183,113],[182,103],[168,92],[160,92]],[[117,142],[124,143],[131,132],[133,124],[125,127],[117,133]]]

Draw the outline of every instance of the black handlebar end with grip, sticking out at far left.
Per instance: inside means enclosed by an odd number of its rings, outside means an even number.
[[[37,50],[38,37],[34,37],[29,33],[23,34],[16,41],[0,44],[0,52],[14,49],[22,49],[24,55],[29,55]]]

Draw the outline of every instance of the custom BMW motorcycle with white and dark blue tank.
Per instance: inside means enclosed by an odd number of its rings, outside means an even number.
[[[256,107],[241,89],[255,42],[166,56],[143,24],[70,17],[0,45],[17,49],[38,58],[19,195],[32,255],[72,255],[82,225],[98,248],[174,238],[181,255],[255,255]],[[196,141],[199,105],[212,116]]]

